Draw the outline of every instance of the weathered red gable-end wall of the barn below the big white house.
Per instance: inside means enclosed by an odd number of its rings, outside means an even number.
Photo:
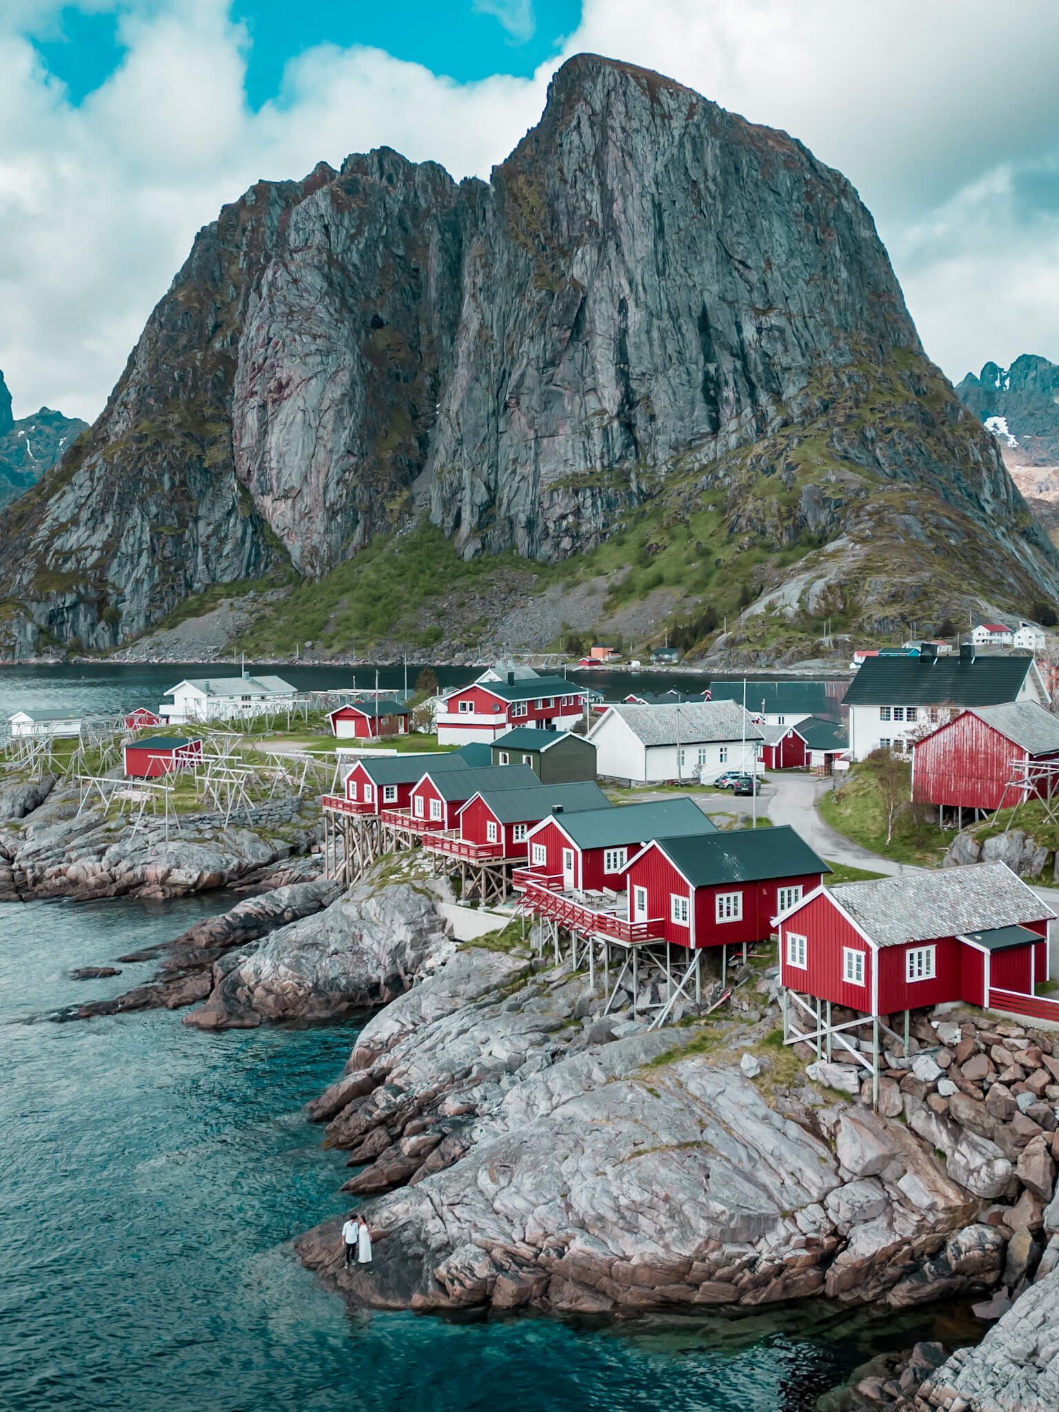
[[[1011,762],[1024,760],[1025,751],[971,712],[962,712],[918,741],[912,755],[912,798],[918,802],[998,809]],[[1014,791],[1004,802],[1015,802]]]

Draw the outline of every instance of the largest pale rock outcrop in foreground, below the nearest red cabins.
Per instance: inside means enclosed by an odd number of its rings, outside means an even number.
[[[1007,1076],[1036,1137],[981,1100],[962,1114],[942,1076],[974,1080],[921,1025],[877,1114],[856,1082],[839,1101],[829,1066],[819,1086],[791,1070],[768,1019],[722,1022],[699,1053],[695,1029],[594,1017],[585,976],[474,947],[374,1017],[311,1111],[357,1168],[347,1190],[377,1197],[376,1260],[342,1268],[337,1223],[302,1260],[354,1303],[414,1309],[907,1308],[1025,1282],[1055,1179],[1046,1084],[1024,1103]],[[1051,1079],[1039,1036],[946,1032],[987,1070],[1008,1039]]]

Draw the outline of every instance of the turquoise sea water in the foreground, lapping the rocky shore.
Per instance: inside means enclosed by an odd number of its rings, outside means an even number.
[[[71,967],[222,907],[0,908],[0,1408],[802,1412],[863,1358],[871,1330],[822,1306],[617,1330],[347,1315],[289,1241],[342,1209],[342,1156],[302,1106],[340,1072],[352,1027],[44,1018],[150,971]]]

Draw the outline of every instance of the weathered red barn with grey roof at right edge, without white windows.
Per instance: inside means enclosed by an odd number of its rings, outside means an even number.
[[[993,810],[1059,789],[1059,720],[1036,702],[960,712],[912,746],[912,799],[940,809]],[[1024,784],[1010,788],[1015,772]]]

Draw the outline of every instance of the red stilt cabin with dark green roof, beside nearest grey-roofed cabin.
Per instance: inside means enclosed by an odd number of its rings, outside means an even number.
[[[626,868],[628,915],[657,919],[657,935],[678,946],[761,942],[825,873],[789,826],[655,839]]]

